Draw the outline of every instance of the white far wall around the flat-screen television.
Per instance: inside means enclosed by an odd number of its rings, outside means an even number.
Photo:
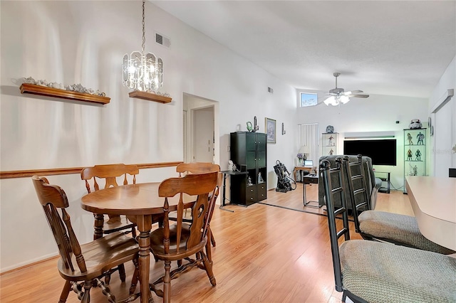
[[[299,90],[298,92],[301,92]],[[303,91],[304,92],[304,91]],[[316,92],[316,91],[309,91]],[[318,92],[323,97],[326,92]],[[299,94],[298,94],[299,95]],[[338,132],[338,154],[343,154],[343,140],[346,133],[366,132],[393,132],[397,139],[396,159],[397,166],[375,165],[377,171],[390,171],[391,183],[395,188],[404,185],[404,134],[411,119],[420,119],[423,127],[427,125],[427,99],[415,97],[398,97],[388,95],[370,95],[366,99],[352,98],[350,102],[341,106],[299,107],[299,123],[318,123],[321,132],[325,132],[327,125],[333,125],[334,132]],[[396,124],[399,121],[399,124]],[[321,142],[321,134],[320,140]],[[296,150],[297,151],[297,150]],[[321,153],[321,147],[319,148]],[[393,188],[392,188],[393,189]]]

